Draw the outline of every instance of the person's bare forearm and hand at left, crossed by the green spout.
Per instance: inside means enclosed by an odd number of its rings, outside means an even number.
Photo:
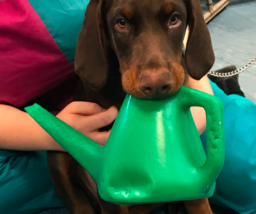
[[[95,103],[73,102],[57,117],[103,145],[109,132],[98,129],[115,120],[117,113],[115,107],[106,110]],[[28,113],[8,105],[0,105],[0,149],[65,151]]]

